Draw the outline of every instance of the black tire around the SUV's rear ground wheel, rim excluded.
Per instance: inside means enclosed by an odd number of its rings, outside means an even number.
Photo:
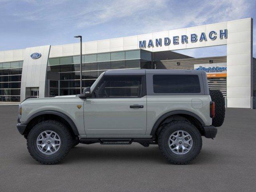
[[[186,154],[175,154],[169,147],[169,138],[176,131],[185,131],[192,138],[192,147]],[[198,156],[202,148],[202,136],[198,129],[187,121],[172,121],[162,128],[158,136],[158,147],[163,156],[173,164],[187,164]]]

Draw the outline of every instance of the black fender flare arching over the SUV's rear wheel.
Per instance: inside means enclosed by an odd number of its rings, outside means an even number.
[[[160,116],[160,118],[158,118],[158,120],[156,120],[156,122],[151,130],[150,135],[152,135],[152,136],[155,135],[158,126],[164,119],[168,118],[169,116],[177,115],[177,114],[190,115],[190,116],[196,118],[200,122],[200,124],[204,125],[204,121],[198,115],[196,115],[190,111],[186,111],[186,110],[174,110],[174,111],[169,111],[169,112],[163,114],[162,116]]]

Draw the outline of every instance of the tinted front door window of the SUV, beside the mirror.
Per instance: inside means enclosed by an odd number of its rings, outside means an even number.
[[[95,98],[138,98],[142,76],[104,76],[94,91]]]

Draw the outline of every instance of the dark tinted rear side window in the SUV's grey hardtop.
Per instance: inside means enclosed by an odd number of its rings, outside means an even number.
[[[153,75],[154,93],[200,93],[198,75]]]

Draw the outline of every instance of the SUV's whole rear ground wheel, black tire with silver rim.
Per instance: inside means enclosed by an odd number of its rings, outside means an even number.
[[[166,124],[158,136],[158,146],[163,156],[173,164],[187,164],[194,160],[202,148],[198,129],[186,121]]]

